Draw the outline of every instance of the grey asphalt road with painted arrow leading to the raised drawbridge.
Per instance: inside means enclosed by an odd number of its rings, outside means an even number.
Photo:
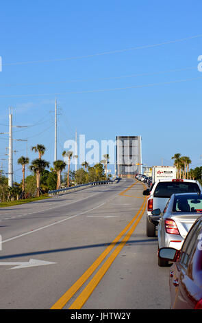
[[[142,190],[127,179],[0,208],[0,309],[168,309]]]

